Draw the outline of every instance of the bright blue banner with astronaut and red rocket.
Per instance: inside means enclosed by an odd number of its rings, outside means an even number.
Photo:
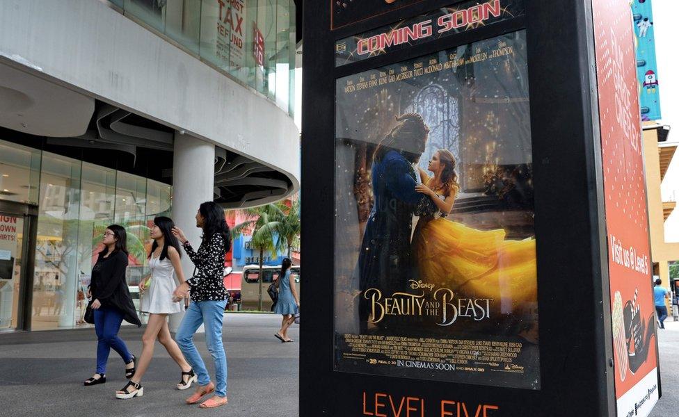
[[[637,79],[641,120],[660,119],[660,84],[655,61],[655,31],[651,0],[633,0],[632,18],[636,35]]]

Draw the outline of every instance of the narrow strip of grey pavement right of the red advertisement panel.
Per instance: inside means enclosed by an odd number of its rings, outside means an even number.
[[[665,329],[657,332],[662,398],[650,416],[676,416],[679,410],[679,321],[670,317],[665,320]]]

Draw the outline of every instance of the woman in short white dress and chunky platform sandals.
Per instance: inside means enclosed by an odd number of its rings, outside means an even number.
[[[175,223],[170,218],[157,217],[153,220],[151,228],[153,245],[149,254],[151,273],[139,283],[141,311],[148,313],[149,319],[141,338],[143,350],[138,359],[134,377],[123,389],[115,393],[115,397],[122,400],[144,395],[140,382],[153,357],[156,339],[165,346],[170,357],[182,369],[182,380],[177,384],[177,389],[188,389],[197,379],[193,369],[184,359],[182,351],[179,350],[179,346],[170,336],[168,328],[168,315],[182,311],[183,304],[173,297],[175,288],[177,288],[175,273],[179,284],[184,283],[182,265],[179,263],[179,242],[171,232],[174,226]]]

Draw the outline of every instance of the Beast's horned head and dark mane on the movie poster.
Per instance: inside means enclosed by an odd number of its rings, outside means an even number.
[[[417,113],[406,113],[397,116],[396,120],[400,123],[394,126],[394,129],[377,145],[373,159],[382,161],[387,152],[395,150],[410,163],[417,162],[424,152],[429,126]]]

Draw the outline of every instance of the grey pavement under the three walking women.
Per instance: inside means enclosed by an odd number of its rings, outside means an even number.
[[[117,400],[114,393],[127,380],[113,351],[106,384],[82,384],[95,369],[94,329],[0,334],[0,416],[297,416],[299,327],[290,329],[295,343],[274,338],[278,327],[280,316],[225,316],[229,404],[211,410],[184,404],[193,388],[174,389],[179,368],[159,343],[143,380],[143,397]],[[129,327],[120,332],[137,355],[142,334],[143,329]],[[214,376],[205,337],[198,334],[195,341]]]

